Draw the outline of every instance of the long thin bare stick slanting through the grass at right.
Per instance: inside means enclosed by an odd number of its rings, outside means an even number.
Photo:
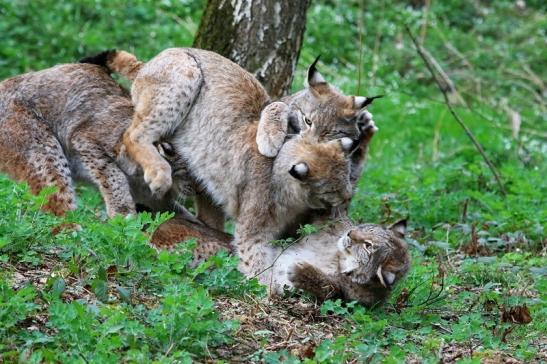
[[[499,172],[496,169],[496,166],[494,166],[494,164],[490,161],[490,159],[488,158],[488,156],[484,152],[484,149],[482,148],[482,145],[479,143],[477,138],[475,138],[475,135],[471,132],[471,129],[469,129],[469,127],[463,122],[463,120],[459,117],[459,115],[456,113],[456,111],[452,107],[452,103],[450,102],[450,99],[448,98],[447,91],[445,90],[445,88],[443,87],[443,85],[441,84],[439,79],[436,77],[436,73],[435,73],[432,65],[429,63],[427,56],[424,53],[424,48],[420,44],[418,44],[418,42],[416,41],[416,38],[414,38],[414,35],[412,34],[412,32],[410,31],[410,28],[407,25],[405,25],[405,29],[406,29],[406,32],[408,33],[410,39],[412,39],[412,42],[414,43],[414,46],[416,47],[416,51],[418,52],[418,54],[420,55],[420,57],[424,61],[425,66],[427,67],[428,71],[431,73],[431,76],[435,80],[435,83],[439,87],[439,90],[442,92],[445,104],[448,107],[448,110],[450,111],[450,114],[452,114],[452,117],[454,117],[454,120],[456,120],[456,122],[462,127],[462,129],[465,131],[465,134],[469,137],[469,139],[471,140],[471,142],[473,143],[473,145],[475,146],[475,148],[477,149],[479,154],[482,156],[482,158],[484,159],[484,161],[486,162],[486,164],[490,168],[490,171],[494,175],[494,178],[496,179],[496,182],[498,183],[498,185],[500,187],[501,193],[503,195],[505,195],[506,194],[505,186],[503,185],[503,182],[501,180]],[[440,65],[438,67],[440,68]],[[454,85],[452,85],[452,86],[454,87]]]

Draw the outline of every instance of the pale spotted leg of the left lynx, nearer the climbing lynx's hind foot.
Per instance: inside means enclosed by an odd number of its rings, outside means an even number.
[[[83,174],[99,188],[109,217],[135,213],[135,202],[126,175],[116,162],[94,141],[74,136],[73,148],[78,152]]]

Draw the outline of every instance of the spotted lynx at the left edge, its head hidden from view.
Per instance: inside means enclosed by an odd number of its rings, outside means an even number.
[[[84,180],[99,188],[108,216],[134,213],[136,201],[191,218],[174,202],[177,188],[191,188],[183,165],[172,168],[176,188],[156,198],[142,171],[118,152],[132,115],[127,92],[95,65],[59,65],[4,80],[0,171],[28,182],[33,193],[56,186],[44,206],[56,215],[75,208],[73,181]]]

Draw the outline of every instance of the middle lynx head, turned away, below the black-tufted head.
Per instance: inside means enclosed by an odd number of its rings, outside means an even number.
[[[283,144],[274,162],[274,178],[287,191],[301,196],[307,207],[338,206],[352,196],[348,160],[352,140],[316,142],[310,133],[292,135]]]

